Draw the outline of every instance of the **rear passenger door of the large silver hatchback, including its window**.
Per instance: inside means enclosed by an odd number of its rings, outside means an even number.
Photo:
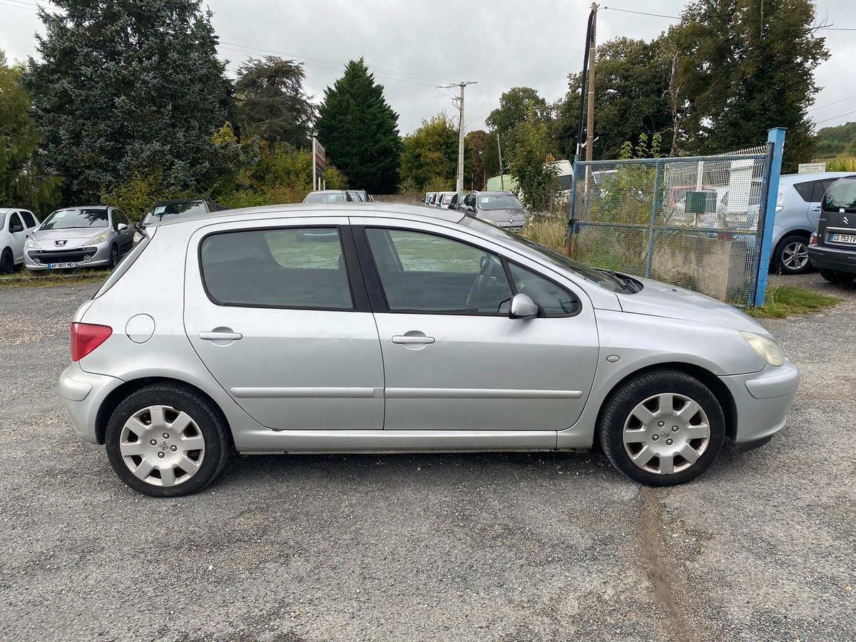
[[[217,223],[190,239],[187,337],[261,425],[383,428],[383,361],[346,220]]]

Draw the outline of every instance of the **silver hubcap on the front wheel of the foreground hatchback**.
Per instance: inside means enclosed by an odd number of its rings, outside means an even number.
[[[687,396],[665,392],[645,399],[624,422],[624,450],[648,473],[670,475],[693,466],[710,443],[710,422]]]

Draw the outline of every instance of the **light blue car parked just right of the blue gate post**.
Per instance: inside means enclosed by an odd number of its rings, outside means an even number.
[[[770,253],[773,270],[782,274],[803,274],[811,269],[809,239],[817,229],[823,193],[844,176],[856,175],[853,172],[823,172],[783,174],[779,177],[773,250]]]

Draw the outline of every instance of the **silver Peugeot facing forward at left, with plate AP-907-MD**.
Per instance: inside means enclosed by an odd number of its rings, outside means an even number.
[[[27,270],[110,267],[134,244],[134,228],[117,207],[57,210],[24,241]]]

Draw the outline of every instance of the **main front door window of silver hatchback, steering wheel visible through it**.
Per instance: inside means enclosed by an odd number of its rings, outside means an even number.
[[[366,229],[389,310],[508,314],[511,288],[496,254],[444,236]]]

